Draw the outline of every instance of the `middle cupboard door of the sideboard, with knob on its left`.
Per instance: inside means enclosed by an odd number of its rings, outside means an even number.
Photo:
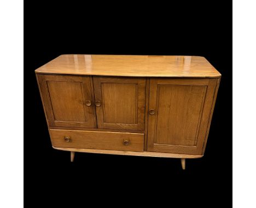
[[[93,79],[98,128],[144,130],[146,78]]]

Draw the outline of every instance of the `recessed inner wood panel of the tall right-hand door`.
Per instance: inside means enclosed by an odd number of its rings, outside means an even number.
[[[206,88],[196,85],[158,85],[155,144],[196,145]]]

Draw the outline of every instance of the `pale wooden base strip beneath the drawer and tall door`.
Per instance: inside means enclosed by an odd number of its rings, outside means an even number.
[[[96,154],[108,154],[108,155],[128,155],[128,156],[144,156],[144,157],[168,157],[168,158],[201,158],[203,155],[185,155],[185,154],[172,154],[164,152],[134,152],[134,151],[118,151],[118,150],[99,150],[99,149],[83,149],[83,148],[57,148],[56,150],[74,151],[74,152],[87,152]]]

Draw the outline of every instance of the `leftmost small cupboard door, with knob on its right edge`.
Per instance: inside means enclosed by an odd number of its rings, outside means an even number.
[[[96,127],[89,76],[37,76],[49,126]]]

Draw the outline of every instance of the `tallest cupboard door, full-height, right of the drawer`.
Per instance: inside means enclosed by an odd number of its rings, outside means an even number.
[[[150,78],[148,151],[201,155],[215,78]]]

